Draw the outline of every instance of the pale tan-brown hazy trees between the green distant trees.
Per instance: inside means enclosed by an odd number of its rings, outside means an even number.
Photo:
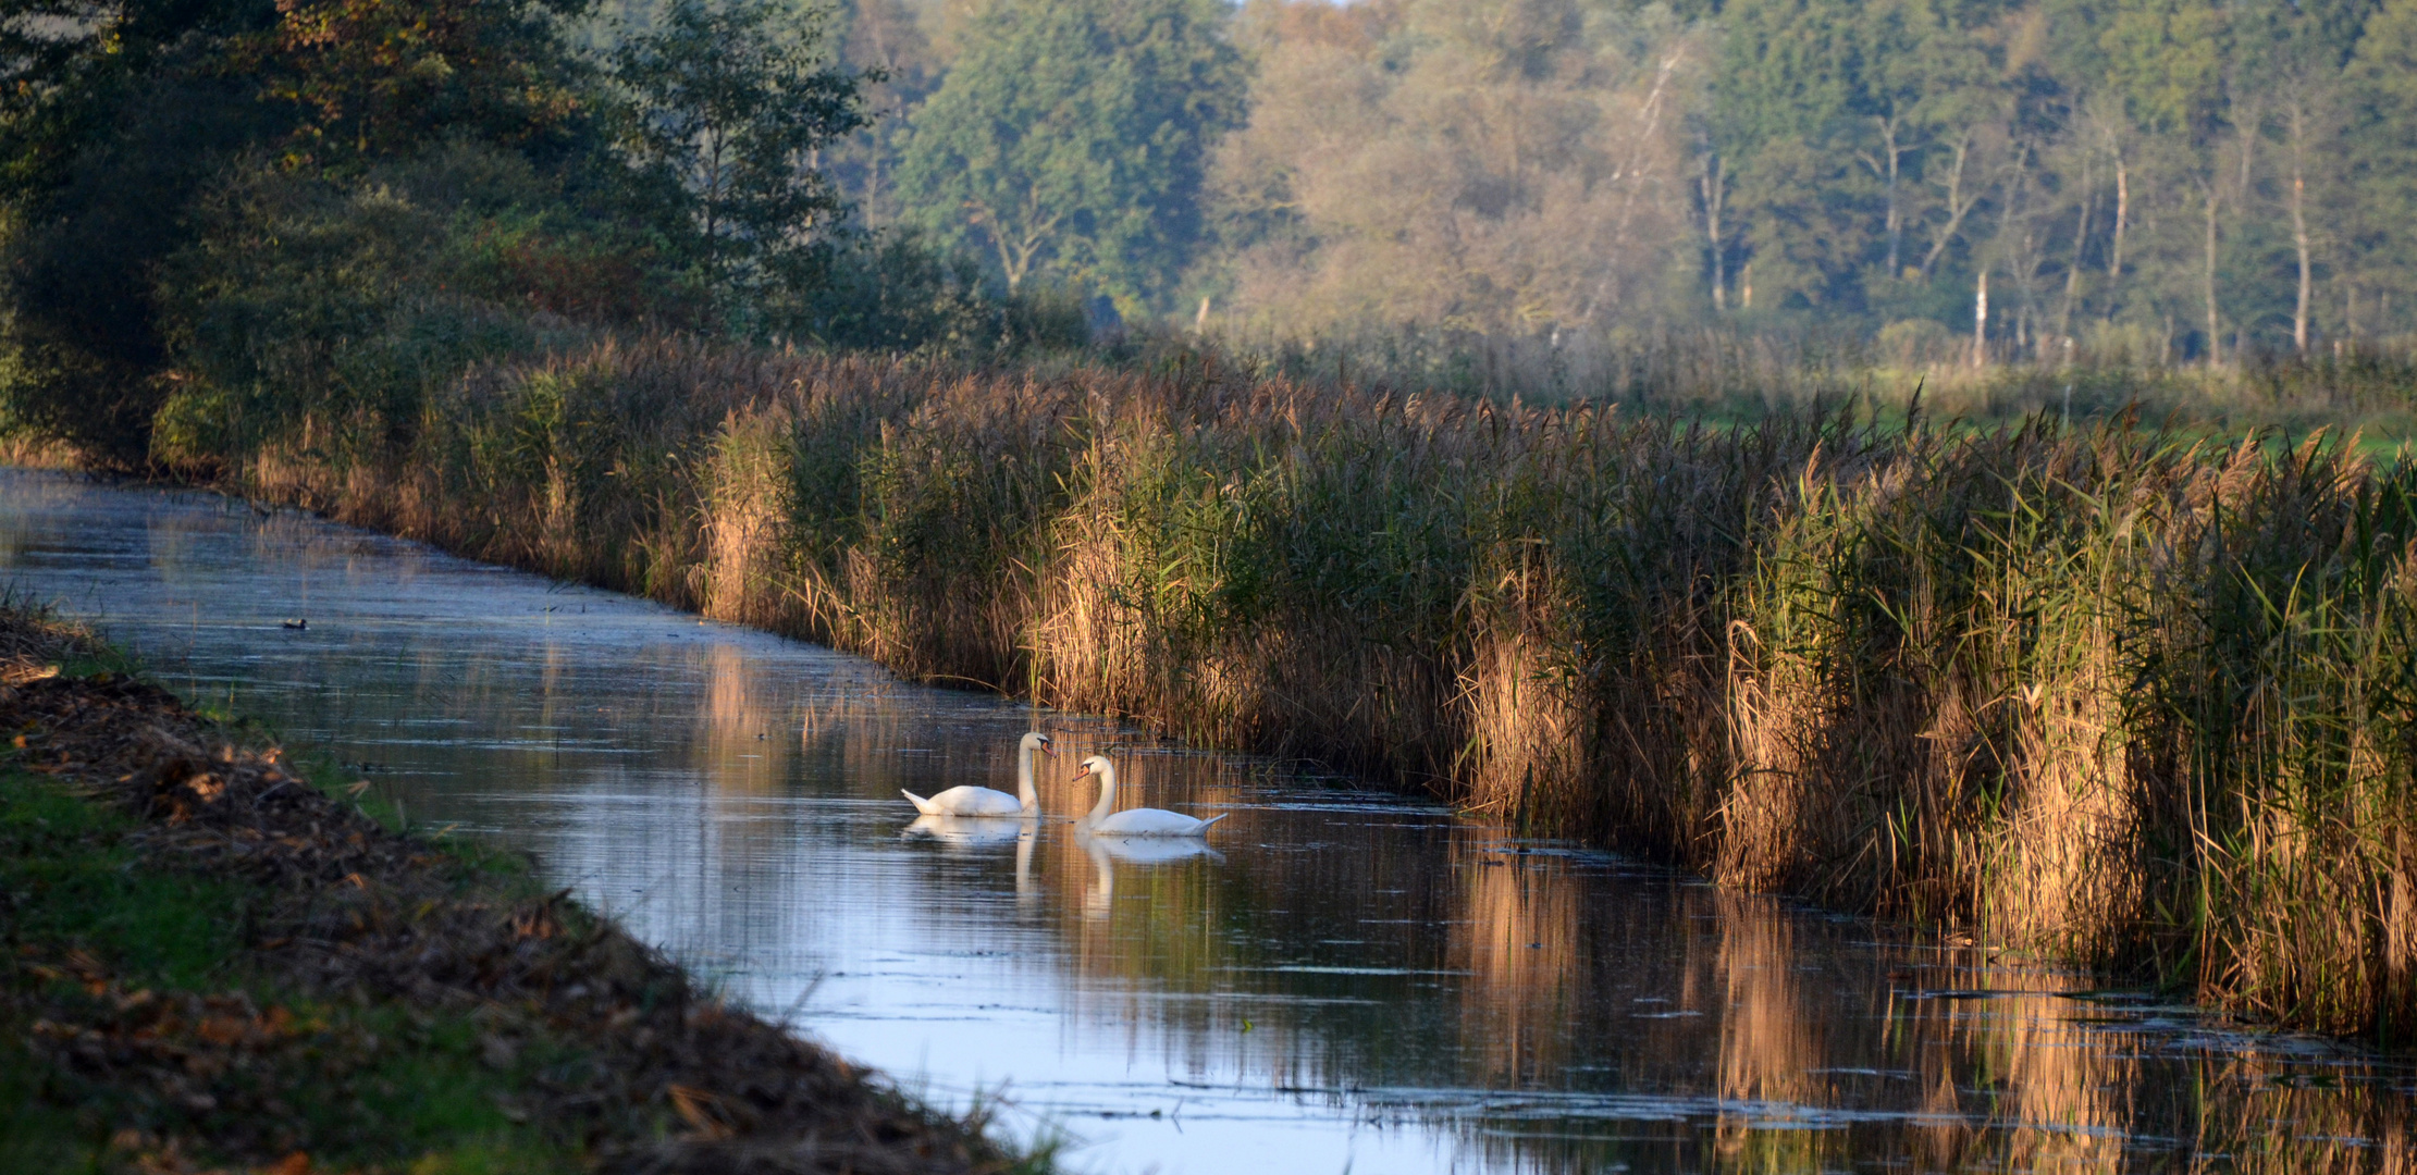
[[[1247,314],[1228,326],[1554,346],[1639,329],[1685,280],[1668,264],[1668,242],[1694,237],[1675,111],[1711,46],[1668,12],[1404,0],[1245,22],[1259,102],[1216,167],[1230,251],[1211,273]]]

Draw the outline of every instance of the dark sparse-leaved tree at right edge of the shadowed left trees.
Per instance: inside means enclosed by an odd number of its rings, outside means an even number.
[[[636,97],[626,147],[694,198],[706,280],[725,297],[810,280],[846,215],[815,152],[865,126],[860,75],[819,17],[769,0],[672,0],[612,56]]]

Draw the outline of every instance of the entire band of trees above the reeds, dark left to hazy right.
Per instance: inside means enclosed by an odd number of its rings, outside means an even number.
[[[2417,324],[2417,0],[0,12],[0,428],[114,462],[408,430],[580,331],[996,353],[1088,302],[2228,363]]]

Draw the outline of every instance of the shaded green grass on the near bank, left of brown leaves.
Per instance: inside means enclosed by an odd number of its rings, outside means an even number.
[[[256,885],[172,873],[128,841],[133,822],[60,783],[0,771],[0,892],[7,895],[12,1023],[0,1044],[0,1170],[104,1170],[109,1139],[135,1129],[242,1136],[307,1151],[321,1165],[411,1173],[578,1170],[558,1139],[520,1124],[505,1100],[544,1064],[515,1054],[491,1064],[466,1013],[396,1003],[329,1003],[285,991],[247,962],[247,911],[276,902]],[[29,967],[85,953],[114,986]],[[56,967],[53,967],[56,969]],[[213,1081],[220,1107],[198,1110],[145,1081],[114,1081],[27,1052],[34,1015],[106,1020],[133,991],[222,996],[242,991],[295,1025],[278,1044],[239,1054]],[[261,1119],[230,1122],[251,1112]]]

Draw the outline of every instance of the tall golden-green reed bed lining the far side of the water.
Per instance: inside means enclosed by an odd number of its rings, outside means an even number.
[[[220,457],[909,677],[2417,1035],[2417,474],[2347,445],[657,338]]]

